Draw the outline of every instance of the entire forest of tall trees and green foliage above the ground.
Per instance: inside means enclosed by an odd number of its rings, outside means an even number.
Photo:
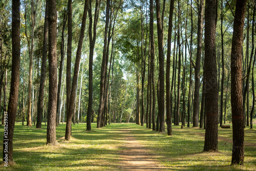
[[[203,152],[231,134],[229,164],[244,164],[246,135],[255,140],[254,0],[1,0],[0,9],[4,166],[14,165],[16,125],[58,146],[78,127],[90,137],[113,124],[168,138],[192,127]]]

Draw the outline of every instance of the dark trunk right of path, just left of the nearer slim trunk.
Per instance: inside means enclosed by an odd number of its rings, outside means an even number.
[[[164,0],[165,2],[165,0]],[[164,10],[164,9],[163,9]],[[160,1],[156,0],[156,14],[157,14],[157,38],[158,38],[158,58],[159,58],[159,99],[158,99],[158,115],[159,115],[159,132],[164,133],[164,53],[163,53],[163,27],[160,13]]]

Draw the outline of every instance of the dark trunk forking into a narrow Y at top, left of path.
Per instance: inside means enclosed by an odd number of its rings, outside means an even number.
[[[94,11],[94,20],[92,19],[92,1],[89,1],[89,41],[90,41],[90,53],[89,53],[89,100],[87,108],[87,124],[86,130],[91,131],[91,122],[92,122],[92,108],[93,108],[93,52],[96,41],[96,28],[99,18],[99,9],[100,9],[101,0],[96,0],[95,11]],[[92,34],[92,25],[93,25],[93,34]]]

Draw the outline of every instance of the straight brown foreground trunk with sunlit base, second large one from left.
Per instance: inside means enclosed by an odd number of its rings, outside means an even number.
[[[57,11],[56,0],[49,0],[49,100],[47,114],[46,144],[55,145],[56,141],[56,108],[57,108]]]

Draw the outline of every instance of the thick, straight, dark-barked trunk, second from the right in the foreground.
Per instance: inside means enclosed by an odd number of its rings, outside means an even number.
[[[206,130],[204,151],[218,151],[218,75],[216,65],[217,1],[205,3],[205,111]]]

